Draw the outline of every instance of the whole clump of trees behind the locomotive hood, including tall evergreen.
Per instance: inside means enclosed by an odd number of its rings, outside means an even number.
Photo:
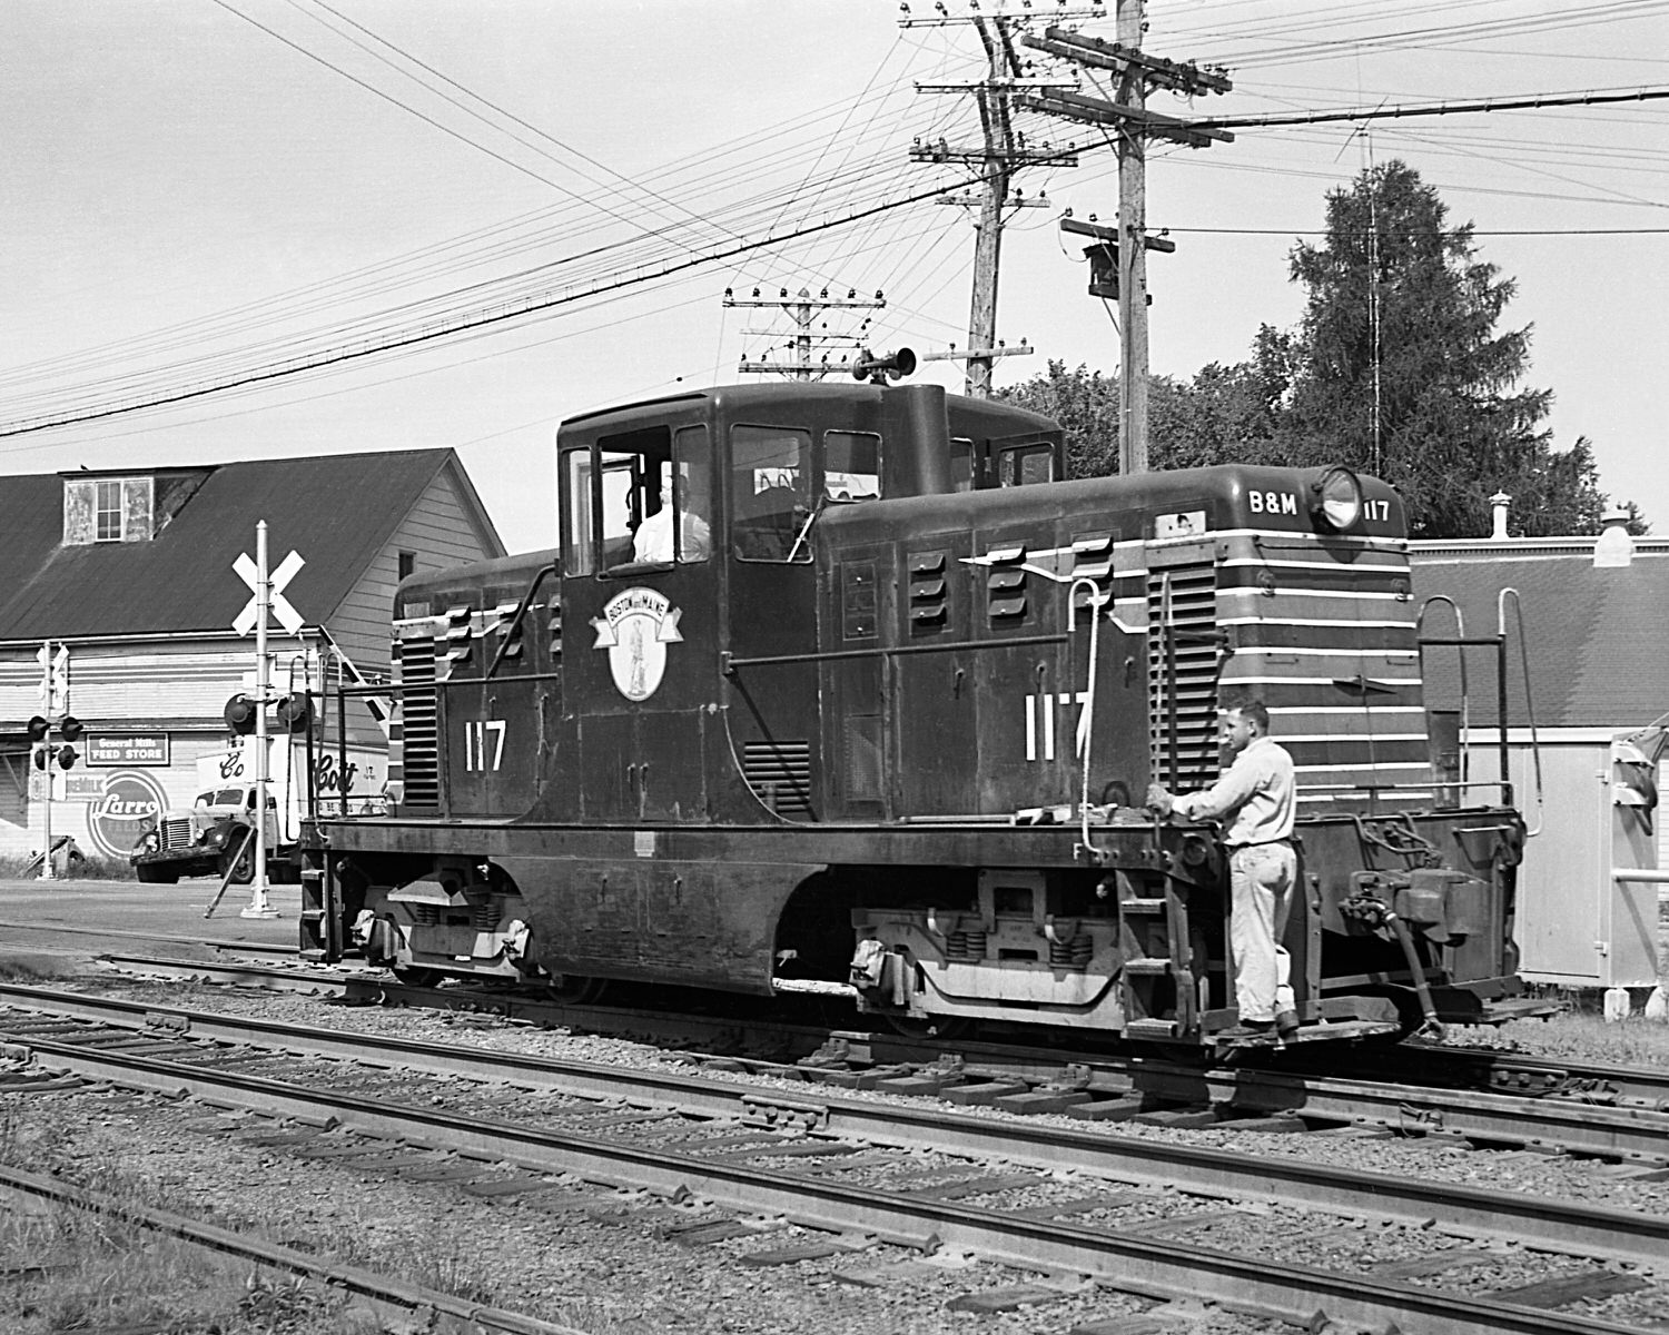
[[[1389,162],[1330,192],[1325,237],[1293,249],[1292,279],[1308,292],[1295,330],[1265,325],[1248,360],[1190,382],[1152,379],[1153,467],[1345,464],[1394,482],[1420,537],[1485,536],[1497,491],[1515,532],[1597,532],[1592,446],[1552,449],[1551,392],[1517,387],[1530,330],[1497,330],[1512,280],[1417,172]],[[1050,362],[1005,397],[1061,421],[1075,477],[1117,472],[1115,377]]]

